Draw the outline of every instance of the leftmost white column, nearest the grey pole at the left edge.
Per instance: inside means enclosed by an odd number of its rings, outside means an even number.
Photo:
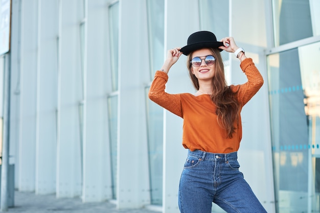
[[[21,1],[19,190],[35,190],[38,1]]]

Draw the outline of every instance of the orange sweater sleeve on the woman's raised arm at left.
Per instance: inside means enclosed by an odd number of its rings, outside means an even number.
[[[149,99],[170,112],[182,117],[180,94],[169,94],[165,92],[167,81],[168,74],[157,71],[149,89]]]

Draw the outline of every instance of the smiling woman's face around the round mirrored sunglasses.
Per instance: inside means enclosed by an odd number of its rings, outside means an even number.
[[[212,65],[208,65],[204,62],[206,56],[213,55],[212,51],[210,49],[201,49],[194,51],[192,53],[192,59],[195,57],[199,57],[201,59],[201,65],[200,66],[194,66],[191,65],[191,71],[192,74],[195,75],[195,77],[198,79],[198,81],[201,80],[211,80],[215,75],[215,62]]]

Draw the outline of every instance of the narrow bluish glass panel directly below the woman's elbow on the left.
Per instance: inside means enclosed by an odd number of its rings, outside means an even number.
[[[152,205],[162,205],[163,108],[148,98],[148,91],[146,88],[150,196]]]

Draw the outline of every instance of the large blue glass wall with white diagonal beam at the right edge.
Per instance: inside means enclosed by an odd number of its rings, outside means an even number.
[[[319,212],[319,1],[272,4],[275,50],[286,46],[267,56],[276,209]]]

